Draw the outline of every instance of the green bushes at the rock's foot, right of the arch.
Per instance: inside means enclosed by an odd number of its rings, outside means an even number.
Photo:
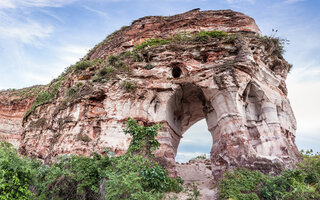
[[[284,171],[278,176],[267,176],[258,171],[237,169],[227,172],[220,182],[222,199],[320,199],[320,154],[308,151],[304,164],[297,169]]]

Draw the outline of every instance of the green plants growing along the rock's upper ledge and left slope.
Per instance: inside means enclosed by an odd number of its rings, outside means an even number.
[[[96,60],[81,60],[75,65],[70,66],[62,73],[56,81],[61,81],[66,78],[66,74],[70,72],[82,73],[86,70],[90,74],[85,74],[85,76],[91,76],[93,83],[106,83],[112,78],[117,78],[116,75],[126,74],[130,75],[130,66],[126,63],[130,62],[141,62],[144,60],[141,51],[145,48],[157,47],[165,45],[171,42],[199,42],[207,41],[210,38],[223,38],[228,36],[224,31],[201,31],[199,33],[178,33],[167,38],[151,38],[143,41],[141,44],[136,45],[133,51],[125,51],[118,55],[110,54],[105,62],[100,59]],[[110,38],[110,37],[108,37]],[[102,42],[104,43],[104,42]],[[90,54],[90,53],[89,53]],[[154,66],[151,64],[145,65],[145,69],[150,70]],[[87,70],[89,68],[89,70]],[[95,72],[92,75],[91,72]],[[129,87],[127,87],[129,86]],[[130,92],[134,91],[133,85],[126,85],[124,88],[128,89]]]

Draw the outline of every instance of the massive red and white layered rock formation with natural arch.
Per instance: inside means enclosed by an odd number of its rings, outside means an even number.
[[[0,133],[21,130],[21,153],[50,163],[106,147],[124,153],[128,117],[162,123],[156,157],[174,173],[180,139],[205,118],[215,177],[237,166],[278,173],[300,160],[282,51],[252,18],[231,10],[144,17],[110,35],[36,100],[1,101]]]

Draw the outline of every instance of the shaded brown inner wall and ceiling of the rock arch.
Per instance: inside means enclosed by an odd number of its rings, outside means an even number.
[[[214,139],[217,114],[206,99],[202,89],[192,83],[181,84],[167,104],[166,119],[174,136],[172,148],[176,157],[183,134],[195,123],[206,119],[207,127]],[[213,144],[212,144],[213,145]],[[211,145],[211,149],[212,149]],[[210,154],[212,153],[212,150]]]

